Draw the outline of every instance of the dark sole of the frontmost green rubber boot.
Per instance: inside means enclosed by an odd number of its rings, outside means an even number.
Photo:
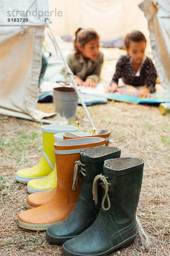
[[[109,249],[105,252],[102,252],[102,253],[97,253],[97,254],[72,253],[71,251],[68,251],[64,248],[64,244],[62,245],[62,252],[63,252],[64,256],[107,256],[110,253],[112,253],[118,249],[121,249],[121,248],[124,248],[124,247],[127,247],[128,245],[130,245],[135,240],[136,236],[137,236],[137,232],[134,236],[131,236],[130,238],[123,241],[122,243],[120,243],[116,246],[113,246],[111,249]]]

